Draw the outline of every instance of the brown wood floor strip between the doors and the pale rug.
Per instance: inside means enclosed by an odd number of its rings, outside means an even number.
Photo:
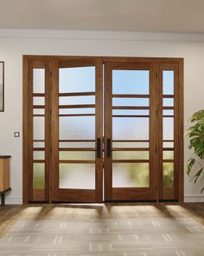
[[[204,225],[204,203],[65,204],[0,207],[0,237],[17,221],[193,218]]]

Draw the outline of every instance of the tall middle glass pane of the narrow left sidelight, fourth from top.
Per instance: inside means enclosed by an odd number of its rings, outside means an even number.
[[[44,140],[45,139],[45,118],[44,117],[34,117],[33,118],[33,131],[34,140]]]

